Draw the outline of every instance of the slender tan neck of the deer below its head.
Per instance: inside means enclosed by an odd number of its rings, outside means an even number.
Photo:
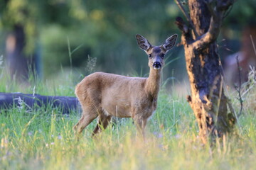
[[[149,77],[146,79],[146,92],[149,96],[157,98],[160,87],[161,71],[150,69]]]

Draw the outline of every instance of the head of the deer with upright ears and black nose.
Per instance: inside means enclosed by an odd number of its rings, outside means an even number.
[[[149,43],[146,38],[142,35],[137,34],[136,39],[138,42],[139,47],[146,52],[149,56],[149,67],[152,69],[161,69],[164,67],[164,56],[166,52],[171,50],[174,47],[175,42],[177,40],[176,34],[171,35],[171,37],[167,38],[164,44],[160,46],[154,46]]]

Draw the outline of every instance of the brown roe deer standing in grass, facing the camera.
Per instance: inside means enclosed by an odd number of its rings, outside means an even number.
[[[136,38],[139,47],[149,55],[149,77],[95,72],[82,79],[75,88],[82,106],[82,117],[73,128],[76,134],[99,117],[92,133],[92,136],[96,135],[107,128],[112,116],[118,116],[133,118],[137,132],[144,137],[146,121],[156,111],[164,55],[174,47],[177,35],[167,38],[160,46],[151,45],[142,35],[136,35]]]

